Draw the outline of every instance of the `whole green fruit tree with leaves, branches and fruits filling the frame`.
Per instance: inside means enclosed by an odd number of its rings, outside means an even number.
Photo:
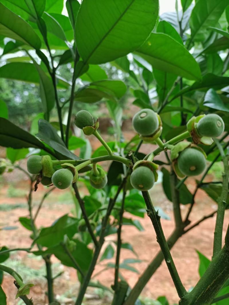
[[[41,256],[50,304],[55,303],[52,256],[77,271],[81,285],[78,295],[72,295],[76,305],[82,304],[88,286],[111,290],[113,305],[141,304],[138,297],[163,260],[180,305],[227,304],[229,230],[223,241],[222,234],[225,209],[229,207],[228,1],[181,0],[181,11],[176,5],[176,12],[160,17],[158,0],[83,0],[81,4],[67,0],[68,16],[61,14],[63,5],[63,0],[0,3],[0,77],[39,86],[43,108],[28,132],[26,126],[23,129],[8,120],[7,105],[0,103],[0,144],[7,147],[7,160],[1,160],[0,170],[3,174],[18,168],[27,174],[31,182],[29,217],[20,217],[19,221],[32,232],[29,248],[8,249],[2,245],[1,262],[16,250]],[[115,67],[125,82],[108,79],[104,63]],[[71,66],[71,79],[61,75],[66,64]],[[120,100],[125,94],[134,96],[133,105],[139,107],[133,117],[136,135],[129,142],[121,129]],[[99,101],[106,103],[114,122],[113,142],[104,141],[99,120],[88,111],[73,112],[74,105],[81,104],[83,109],[85,103]],[[58,122],[50,121],[55,111]],[[74,135],[76,128],[82,130],[82,137]],[[91,137],[102,145],[93,153]],[[157,148],[145,155],[140,152],[144,143]],[[76,156],[73,151],[78,148]],[[18,162],[26,157],[27,171]],[[205,182],[210,168],[220,160],[224,165],[222,179]],[[107,173],[104,161],[110,161]],[[163,173],[165,195],[173,203],[175,228],[168,240],[160,222],[163,214],[148,193],[158,179],[158,170]],[[186,178],[196,175],[195,189],[190,192]],[[77,181],[85,184],[90,196],[80,196]],[[39,192],[40,183],[49,187],[35,210],[34,190]],[[38,213],[55,187],[73,188],[76,217],[63,215],[52,226],[38,228]],[[218,208],[192,223],[190,215],[199,189],[215,200]],[[188,205],[187,215],[181,214],[181,205]],[[120,262],[123,249],[134,251],[131,244],[122,241],[122,226],[135,225],[141,230],[141,225],[123,214],[127,211],[143,217],[143,209],[161,250],[130,288],[120,268],[130,269],[130,264],[138,260]],[[212,260],[207,261],[199,282],[187,292],[170,249],[214,214]],[[117,235],[117,242],[104,249],[110,234]],[[108,266],[115,270],[110,289],[91,278],[99,258],[113,256],[115,264]],[[206,262],[205,257],[202,259]],[[16,298],[33,304],[27,297],[33,284],[23,282],[23,274],[5,265],[0,265],[0,270],[13,276],[18,288]],[[0,300],[6,304],[2,288]],[[166,302],[165,298],[158,300],[158,304]]]

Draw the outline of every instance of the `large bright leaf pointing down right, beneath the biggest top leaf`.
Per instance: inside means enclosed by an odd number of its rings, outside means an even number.
[[[136,53],[146,59],[153,68],[200,80],[198,63],[180,43],[165,34],[151,33]]]

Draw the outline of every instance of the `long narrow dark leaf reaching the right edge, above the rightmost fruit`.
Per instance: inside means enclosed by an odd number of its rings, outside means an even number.
[[[184,88],[179,91],[173,99],[176,99],[178,96],[183,95],[185,93],[199,90],[199,91],[207,91],[209,88],[221,89],[229,84],[229,77],[217,76],[214,74],[206,74],[202,81],[197,81],[190,87]]]

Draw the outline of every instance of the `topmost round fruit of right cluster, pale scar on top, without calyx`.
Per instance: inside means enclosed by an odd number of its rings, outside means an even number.
[[[159,127],[157,114],[151,109],[142,109],[137,112],[132,120],[135,131],[143,136],[149,136]]]

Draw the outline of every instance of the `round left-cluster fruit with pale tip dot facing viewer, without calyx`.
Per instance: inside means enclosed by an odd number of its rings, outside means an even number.
[[[53,185],[61,190],[68,188],[72,184],[72,181],[73,174],[71,170],[67,168],[61,168],[60,170],[57,170],[52,177]]]

